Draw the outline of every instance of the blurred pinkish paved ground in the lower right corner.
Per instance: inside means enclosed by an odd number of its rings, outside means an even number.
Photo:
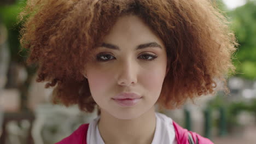
[[[256,143],[256,125],[249,126],[245,131],[241,132],[242,134],[225,136],[225,137],[216,137],[212,141],[215,144],[254,144]]]

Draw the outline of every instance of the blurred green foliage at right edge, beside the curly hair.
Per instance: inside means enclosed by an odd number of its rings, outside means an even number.
[[[235,53],[234,64],[237,76],[246,79],[256,78],[256,3],[248,1],[242,7],[229,12],[232,29],[240,46]]]

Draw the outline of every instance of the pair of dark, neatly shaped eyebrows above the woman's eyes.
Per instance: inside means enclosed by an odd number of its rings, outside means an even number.
[[[102,43],[100,45],[100,47],[106,47],[108,49],[112,49],[112,50],[120,50],[120,48],[116,45],[113,45],[113,44],[107,44],[107,43]],[[141,50],[141,49],[145,49],[147,47],[159,47],[160,49],[162,49],[161,45],[159,45],[158,43],[156,42],[152,42],[152,43],[146,43],[146,44],[141,44],[141,45],[138,45],[136,47],[136,50]]]

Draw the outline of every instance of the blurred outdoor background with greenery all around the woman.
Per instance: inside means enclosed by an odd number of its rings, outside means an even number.
[[[228,17],[240,44],[234,55],[236,74],[228,79],[230,95],[206,95],[195,105],[188,101],[181,109],[160,112],[214,143],[255,143],[256,1],[212,1]],[[27,53],[20,49],[17,15],[25,3],[0,1],[0,143],[52,144],[97,115],[49,103],[53,89],[35,81],[36,69],[26,65]]]

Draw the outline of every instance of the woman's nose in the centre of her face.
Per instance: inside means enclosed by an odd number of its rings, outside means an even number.
[[[135,62],[126,61],[119,65],[118,85],[130,86],[137,83],[137,65]]]

